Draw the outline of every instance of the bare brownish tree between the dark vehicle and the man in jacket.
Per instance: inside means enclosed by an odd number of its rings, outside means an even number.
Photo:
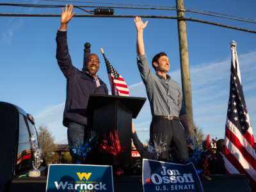
[[[51,135],[51,132],[48,131],[46,126],[40,125],[37,137],[39,146],[42,149],[42,158],[45,163],[51,164],[57,161],[58,156],[56,156],[54,152],[54,148],[56,147],[54,137]]]

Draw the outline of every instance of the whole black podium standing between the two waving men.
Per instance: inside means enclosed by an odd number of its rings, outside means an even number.
[[[131,160],[132,118],[136,118],[145,101],[144,97],[90,95],[87,110],[93,112],[93,131],[99,138],[116,131],[122,150],[118,160],[111,154],[98,152],[93,163],[110,164],[114,169],[119,163],[123,170],[128,168]]]

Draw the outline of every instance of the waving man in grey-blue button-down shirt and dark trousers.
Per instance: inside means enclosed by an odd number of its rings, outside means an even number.
[[[138,68],[147,89],[152,113],[150,143],[155,145],[156,150],[160,150],[161,155],[158,159],[161,161],[170,161],[169,151],[171,145],[174,145],[175,157],[177,157],[175,160],[182,162],[188,159],[184,133],[186,132],[189,136],[186,111],[182,102],[182,90],[179,84],[167,74],[170,69],[170,61],[164,52],[154,56],[152,66],[156,70],[156,74],[151,72],[143,42],[143,29],[147,26],[148,21],[143,23],[140,17],[135,17],[134,23],[137,29]]]

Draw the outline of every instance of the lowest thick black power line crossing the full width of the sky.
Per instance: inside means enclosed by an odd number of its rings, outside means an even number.
[[[73,17],[112,17],[112,18],[134,18],[136,16],[140,16],[142,18],[156,18],[156,19],[178,19],[178,20],[189,20],[193,22],[201,22],[204,24],[211,24],[214,26],[220,26],[223,28],[236,29],[239,31],[245,31],[248,33],[256,33],[256,31],[244,28],[237,28],[234,26],[227,26],[224,24],[218,24],[216,22],[209,22],[205,20],[192,19],[192,18],[179,18],[172,16],[151,16],[151,15],[74,15]],[[0,17],[61,17],[61,15],[52,15],[52,14],[13,14],[13,13],[0,13]]]

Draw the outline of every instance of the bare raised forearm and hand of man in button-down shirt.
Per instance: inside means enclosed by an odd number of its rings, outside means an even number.
[[[134,19],[134,23],[137,29],[137,54],[144,55],[145,54],[145,46],[143,41],[143,29],[147,26],[148,21],[145,23],[142,22],[141,18],[136,16]]]

